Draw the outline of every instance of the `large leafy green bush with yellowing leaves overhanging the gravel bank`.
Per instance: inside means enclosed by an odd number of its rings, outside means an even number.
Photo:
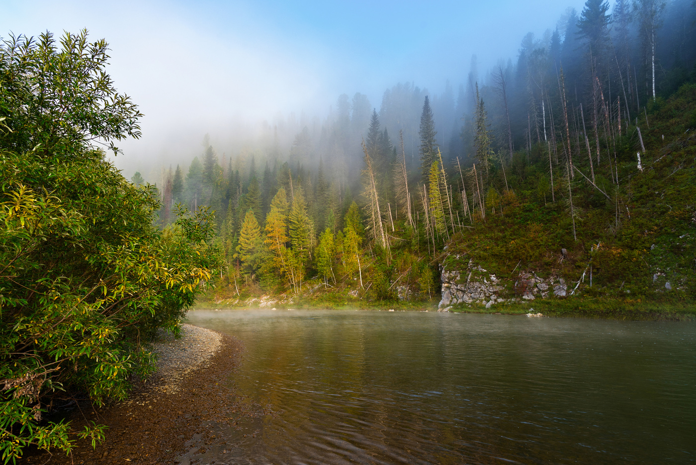
[[[139,136],[137,107],[104,72],[106,42],[86,33],[0,45],[0,450],[69,452],[74,432],[45,413],[86,393],[122,400],[148,375],[157,328],[183,312],[218,265],[212,217],[180,209],[153,225],[152,187],[137,188],[90,141]]]

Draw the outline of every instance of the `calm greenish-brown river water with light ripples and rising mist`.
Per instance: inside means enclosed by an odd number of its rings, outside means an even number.
[[[696,463],[696,324],[198,310],[241,339],[217,464]],[[244,436],[246,434],[246,436]]]

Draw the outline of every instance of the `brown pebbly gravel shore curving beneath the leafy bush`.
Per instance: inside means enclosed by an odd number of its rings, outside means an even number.
[[[66,464],[172,464],[200,448],[212,435],[213,423],[230,423],[248,407],[235,396],[230,375],[236,372],[242,343],[216,331],[184,324],[180,339],[155,343],[157,372],[134,385],[118,404],[92,409],[87,402],[70,412],[72,429],[88,421],[106,425],[106,440],[93,449],[78,441],[72,455],[55,451],[29,455],[22,462]]]

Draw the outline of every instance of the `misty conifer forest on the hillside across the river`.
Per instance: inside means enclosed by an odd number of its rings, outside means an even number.
[[[651,258],[647,235],[674,219],[691,246],[677,217],[693,214],[693,161],[673,157],[675,144],[693,152],[695,20],[690,0],[612,11],[588,0],[541,38],[528,33],[516,61],[480,75],[473,57],[456,99],[449,83],[441,95],[397,84],[379,112],[340,95],[289,147],[294,117],[236,155],[206,136],[189,166],[154,176],[159,221],[178,204],[216,212],[218,300],[318,283],[332,289],[322,299],[429,299],[455,250],[499,274],[581,280],[586,293],[663,299],[653,283],[666,283],[691,296],[693,261],[666,237],[669,252]]]

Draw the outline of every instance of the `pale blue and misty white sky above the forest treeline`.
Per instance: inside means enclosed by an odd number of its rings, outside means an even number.
[[[525,33],[553,29],[581,0],[61,1],[1,0],[0,36],[86,28],[111,47],[116,87],[145,113],[126,155],[200,141],[232,121],[289,111],[324,116],[341,93],[379,111],[397,82],[440,93],[514,58]],[[197,148],[196,148],[197,150]]]

